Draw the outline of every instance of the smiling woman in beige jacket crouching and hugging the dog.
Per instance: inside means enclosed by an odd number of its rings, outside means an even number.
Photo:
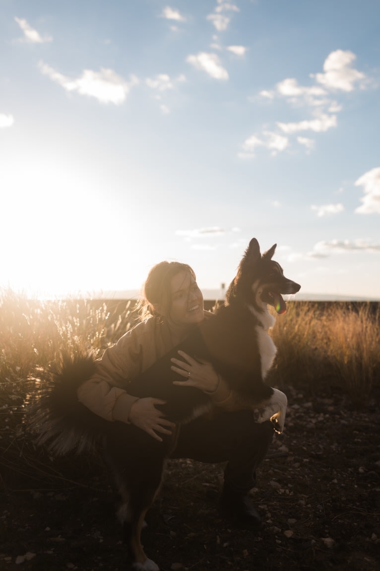
[[[140,323],[105,350],[97,360],[97,373],[78,390],[81,403],[109,421],[133,424],[152,438],[177,430],[156,408],[164,401],[129,395],[125,380],[140,375],[183,340],[191,328],[213,314],[203,309],[203,296],[194,271],[187,264],[161,262],[150,270],[140,302]],[[186,457],[206,463],[226,462],[220,508],[224,516],[260,525],[261,518],[247,494],[255,472],[272,441],[273,425],[257,424],[251,411],[240,410],[233,391],[213,366],[179,351],[171,369],[184,377],[175,382],[197,387],[214,404],[213,415],[182,425],[172,458]],[[186,393],[184,393],[186,397]]]

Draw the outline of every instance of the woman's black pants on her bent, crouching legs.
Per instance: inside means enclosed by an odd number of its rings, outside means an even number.
[[[170,457],[227,462],[224,481],[236,492],[247,493],[272,437],[273,424],[255,423],[251,411],[219,412],[213,419],[199,417],[183,425]]]

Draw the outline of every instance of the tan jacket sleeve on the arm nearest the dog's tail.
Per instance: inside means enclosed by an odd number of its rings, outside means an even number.
[[[129,395],[120,387],[141,372],[144,325],[136,325],[106,349],[101,359],[96,361],[95,375],[77,391],[79,401],[105,420],[129,423],[130,407],[138,397]]]

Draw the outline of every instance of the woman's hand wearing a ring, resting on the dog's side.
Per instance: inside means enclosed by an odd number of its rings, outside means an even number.
[[[171,370],[185,377],[185,381],[173,381],[173,385],[178,387],[196,387],[203,392],[213,393],[219,385],[219,375],[215,371],[213,365],[208,361],[196,360],[183,351],[178,351],[185,361],[179,359],[171,359],[174,365]],[[190,373],[190,375],[189,375]]]

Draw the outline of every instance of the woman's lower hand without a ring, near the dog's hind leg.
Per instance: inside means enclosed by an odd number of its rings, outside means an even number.
[[[146,397],[134,401],[130,407],[128,420],[154,439],[162,442],[162,438],[158,436],[157,432],[171,434],[169,428],[174,428],[175,424],[166,420],[163,413],[154,406],[155,404],[165,404],[165,400]]]

